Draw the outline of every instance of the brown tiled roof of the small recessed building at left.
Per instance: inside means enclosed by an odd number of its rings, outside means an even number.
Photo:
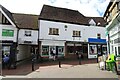
[[[22,29],[38,29],[38,16],[30,14],[12,14],[16,25]]]

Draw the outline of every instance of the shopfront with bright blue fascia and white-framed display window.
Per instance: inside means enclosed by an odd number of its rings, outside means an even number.
[[[106,39],[88,38],[88,58],[97,58],[102,52],[107,54]]]

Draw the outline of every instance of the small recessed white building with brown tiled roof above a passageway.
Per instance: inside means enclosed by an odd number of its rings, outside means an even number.
[[[12,15],[18,26],[17,61],[31,59],[32,49],[35,54],[38,53],[38,16],[18,13]]]

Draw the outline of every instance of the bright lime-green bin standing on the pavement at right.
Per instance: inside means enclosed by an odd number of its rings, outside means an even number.
[[[110,54],[108,56],[108,59],[106,60],[106,68],[107,70],[110,71],[115,71],[115,55],[114,54]]]

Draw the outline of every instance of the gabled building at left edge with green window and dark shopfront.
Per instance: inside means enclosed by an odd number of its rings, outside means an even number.
[[[2,43],[2,54],[16,56],[17,48],[17,25],[12,13],[0,5],[0,42]]]

